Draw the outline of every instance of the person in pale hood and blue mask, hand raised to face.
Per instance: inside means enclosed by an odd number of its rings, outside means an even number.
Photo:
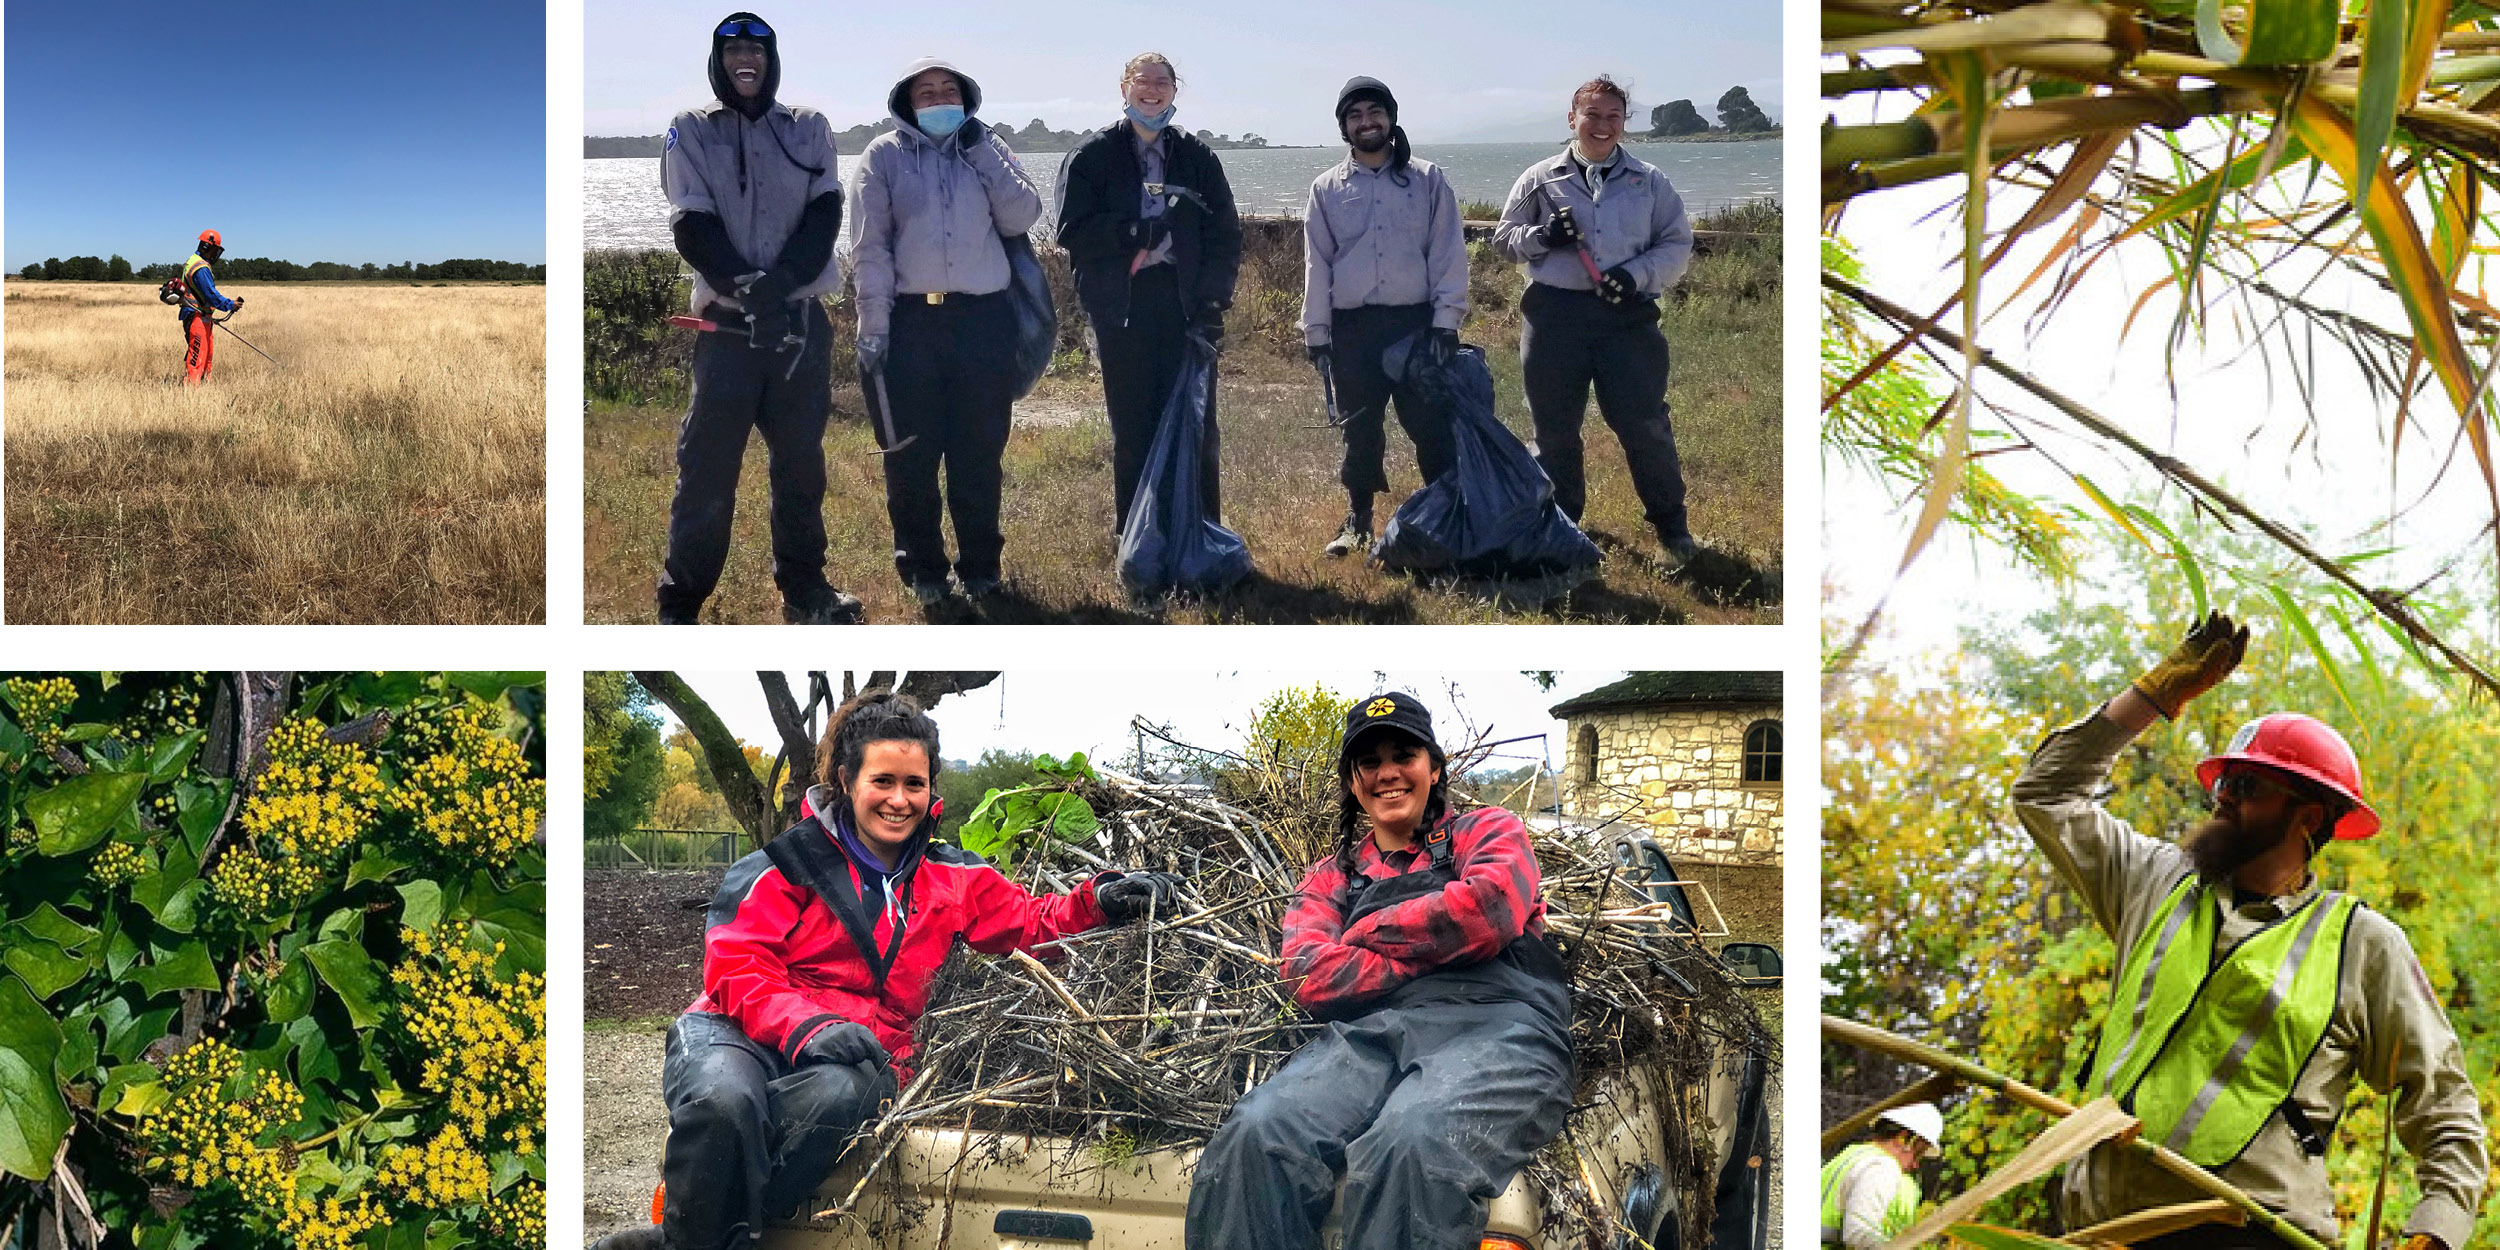
[[[1000,460],[1018,385],[1000,238],[1032,230],[1042,198],[978,118],[980,82],[955,65],[915,60],[885,108],[895,128],[860,152],[852,215],[860,385],[885,450],[895,572],[935,608],[950,592],[940,508],[955,518],[965,595],[1000,588]]]

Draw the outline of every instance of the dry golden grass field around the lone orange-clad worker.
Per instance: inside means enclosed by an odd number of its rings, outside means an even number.
[[[545,620],[545,288],[5,290],[10,625]]]

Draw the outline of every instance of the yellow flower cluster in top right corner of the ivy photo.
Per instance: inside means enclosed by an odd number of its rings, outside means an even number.
[[[480,710],[455,708],[408,742],[418,762],[390,808],[412,815],[438,848],[502,868],[538,835],[548,782],[530,778],[520,745],[488,730]]]

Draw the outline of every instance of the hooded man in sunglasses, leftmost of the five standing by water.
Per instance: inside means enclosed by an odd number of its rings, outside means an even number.
[[[772,482],[772,582],[790,625],[860,620],[825,580],[825,418],[832,410],[832,242],[842,182],[832,122],[775,100],[780,40],[752,12],[712,28],[715,100],[680,112],[660,152],[678,255],[695,270],[695,395],[678,428],[678,492],[655,590],[662,625],[692,625],[720,585],[748,430]]]

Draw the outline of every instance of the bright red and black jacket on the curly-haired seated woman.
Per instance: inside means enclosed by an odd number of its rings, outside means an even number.
[[[702,918],[702,998],[688,1008],[738,1020],[792,1065],[808,1038],[852,1020],[878,1035],[895,1078],[908,1082],[912,1028],[955,938],[982,955],[1005,955],[1105,922],[1092,880],[1065,895],[1028,895],[980,855],[935,842],[935,820],[912,830],[892,878],[880,882],[820,815],[848,820],[840,792],[815,785],[800,810],[805,818],[772,848],[720,878]],[[785,865],[830,885],[832,898],[792,880]],[[875,952],[862,950],[860,935]]]

